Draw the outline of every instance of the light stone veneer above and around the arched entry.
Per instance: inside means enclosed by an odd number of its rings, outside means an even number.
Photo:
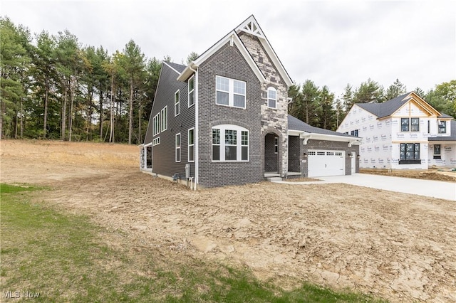
[[[261,85],[261,139],[263,140],[261,153],[264,158],[266,134],[270,132],[278,134],[279,142],[281,142],[279,144],[279,174],[286,177],[288,171],[288,87],[266,50],[261,46],[259,38],[249,33],[241,33],[239,37],[266,78],[266,83]],[[269,108],[267,105],[268,87],[274,87],[277,90],[276,109]]]

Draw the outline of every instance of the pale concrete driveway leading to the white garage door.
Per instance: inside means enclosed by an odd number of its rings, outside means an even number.
[[[345,183],[371,188],[412,193],[414,195],[441,198],[456,201],[456,184],[444,181],[410,179],[393,176],[378,176],[371,174],[354,174],[351,176],[328,176],[317,179],[325,183]]]

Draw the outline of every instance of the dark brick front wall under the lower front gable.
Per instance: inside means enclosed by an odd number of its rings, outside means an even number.
[[[236,46],[222,46],[198,70],[199,184],[204,187],[239,185],[263,180],[261,162],[261,85]],[[247,83],[246,109],[215,104],[215,77]],[[249,130],[248,162],[212,162],[212,127],[235,124]]]

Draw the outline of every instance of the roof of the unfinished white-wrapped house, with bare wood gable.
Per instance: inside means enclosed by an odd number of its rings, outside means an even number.
[[[391,100],[385,101],[383,103],[356,103],[363,110],[371,112],[373,115],[377,116],[378,119],[388,117],[393,115],[396,111],[403,107],[405,103],[413,100],[417,105],[423,108],[430,115],[436,115],[439,117],[442,115],[439,111],[435,110],[429,103],[427,103],[423,98],[418,96],[415,92],[407,92],[403,95],[395,97]],[[450,117],[450,116],[448,116]]]

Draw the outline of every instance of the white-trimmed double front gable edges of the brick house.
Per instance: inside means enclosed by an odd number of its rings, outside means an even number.
[[[293,81],[289,77],[288,73],[286,73],[286,70],[284,66],[281,64],[281,61],[279,60],[279,57],[277,57],[276,53],[274,52],[274,49],[272,49],[271,45],[269,44],[269,41],[267,40],[266,36],[264,36],[263,31],[261,31],[261,28],[259,27],[257,20],[253,15],[249,16],[246,20],[244,20],[239,26],[234,28],[232,31],[227,33],[226,36],[224,36],[222,39],[220,39],[217,43],[215,43],[213,46],[211,46],[208,50],[206,50],[202,55],[199,55],[198,58],[196,58],[194,61],[192,61],[186,68],[185,70],[180,73],[179,77],[177,77],[177,80],[187,80],[187,78],[192,75],[192,73],[195,72],[196,68],[203,63],[207,58],[209,58],[211,55],[213,55],[217,50],[222,48],[222,46],[226,45],[227,43],[230,43],[230,45],[235,44],[237,48],[239,48],[239,51],[241,52],[242,56],[244,59],[247,61],[249,64],[250,68],[252,68],[253,72],[255,75],[257,75],[258,80],[261,83],[266,82],[266,78],[264,78],[263,73],[259,69],[257,63],[255,60],[252,58],[252,55],[249,53],[249,50],[247,50],[246,46],[242,42],[241,38],[239,38],[239,33],[241,31],[244,31],[245,33],[250,33],[254,36],[257,36],[259,38],[260,43],[266,50],[266,53],[269,55],[271,58],[272,62],[274,65],[276,65],[276,68],[279,71],[279,74],[281,77],[284,79],[286,85],[291,86],[293,85]]]

